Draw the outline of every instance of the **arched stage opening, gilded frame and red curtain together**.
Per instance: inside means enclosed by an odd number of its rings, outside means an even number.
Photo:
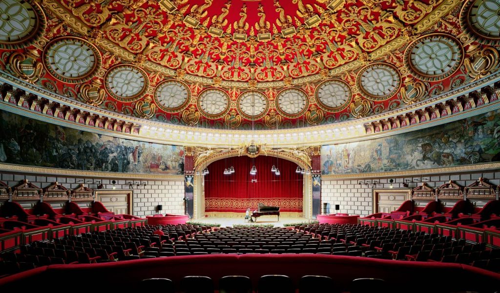
[[[250,175],[253,165],[257,168],[256,175]],[[272,165],[279,168],[280,175],[271,172]],[[230,166],[235,173],[224,175],[224,169]],[[255,158],[228,151],[196,162],[193,218],[242,217],[247,208],[253,211],[259,202],[279,206],[284,217],[309,218],[311,175],[297,174],[297,166],[309,170],[301,160],[275,151]],[[198,175],[205,168],[209,173]]]

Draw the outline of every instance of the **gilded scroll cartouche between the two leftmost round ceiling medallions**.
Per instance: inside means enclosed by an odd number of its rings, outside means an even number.
[[[13,51],[8,56],[7,69],[10,70],[15,77],[29,83],[35,83],[40,79],[43,71],[41,62],[36,61],[37,57],[39,56],[34,56],[33,53],[29,51],[24,53]]]

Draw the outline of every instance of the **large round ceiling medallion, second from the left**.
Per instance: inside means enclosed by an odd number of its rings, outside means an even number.
[[[50,41],[43,50],[43,65],[55,78],[67,83],[91,79],[102,59],[97,48],[77,37],[61,37]]]

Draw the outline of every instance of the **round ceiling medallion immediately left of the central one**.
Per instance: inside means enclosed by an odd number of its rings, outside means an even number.
[[[210,119],[223,117],[230,108],[227,93],[221,89],[208,88],[198,95],[197,106],[199,112]]]

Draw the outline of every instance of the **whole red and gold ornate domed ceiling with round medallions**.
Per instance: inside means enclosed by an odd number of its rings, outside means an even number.
[[[295,128],[487,76],[499,11],[499,0],[0,0],[1,69],[125,115]]]

